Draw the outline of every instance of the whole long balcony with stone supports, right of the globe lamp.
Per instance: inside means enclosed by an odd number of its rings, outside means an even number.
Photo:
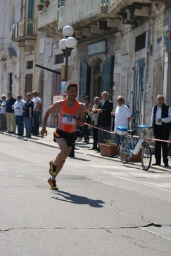
[[[111,0],[75,0],[59,10],[58,30],[66,25],[74,28],[76,38],[91,37],[120,28],[120,19],[113,19]]]

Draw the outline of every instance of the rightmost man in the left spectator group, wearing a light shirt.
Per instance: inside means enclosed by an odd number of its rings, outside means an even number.
[[[40,98],[37,97],[37,91],[34,90],[33,92],[33,118],[32,118],[32,125],[33,125],[33,135],[38,136],[39,131],[39,115],[40,115]]]

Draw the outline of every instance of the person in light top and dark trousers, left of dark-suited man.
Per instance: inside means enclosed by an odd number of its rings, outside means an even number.
[[[96,109],[99,105],[99,101],[100,98],[99,97],[95,97],[94,98],[94,103],[95,105],[92,107],[92,111],[88,111],[88,115],[90,115],[90,117],[92,117],[92,125],[94,127],[97,127],[97,121],[98,121],[98,116],[99,114],[96,112]],[[97,147],[97,143],[98,143],[98,129],[93,127],[93,139],[94,139],[94,143],[93,143],[93,147],[90,148],[89,150],[98,150]]]

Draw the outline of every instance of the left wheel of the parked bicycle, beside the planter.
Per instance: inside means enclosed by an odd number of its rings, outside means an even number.
[[[130,144],[129,144],[129,139],[127,137],[124,137],[120,144],[120,160],[123,164],[127,164],[129,162],[129,149],[130,149]]]

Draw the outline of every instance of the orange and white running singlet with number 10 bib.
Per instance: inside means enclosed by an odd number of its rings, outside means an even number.
[[[67,133],[76,132],[76,110],[79,110],[79,101],[76,101],[76,104],[73,108],[67,106],[66,99],[63,99],[60,113],[58,114],[58,129]]]

